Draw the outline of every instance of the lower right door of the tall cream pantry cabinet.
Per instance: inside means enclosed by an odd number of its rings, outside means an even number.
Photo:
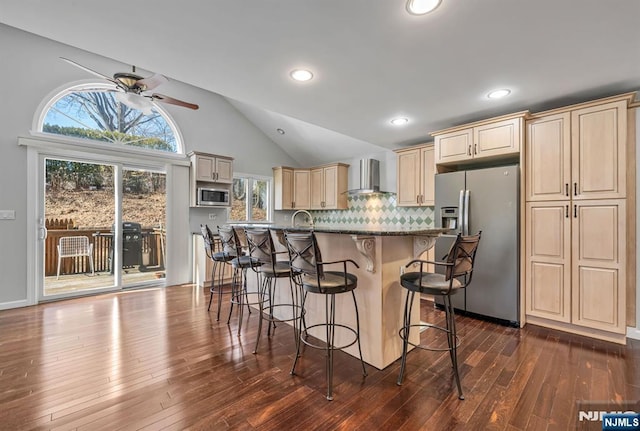
[[[624,334],[625,201],[573,204],[572,322]]]

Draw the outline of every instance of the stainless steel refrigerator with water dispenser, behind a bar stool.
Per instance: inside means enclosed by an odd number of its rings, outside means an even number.
[[[473,279],[452,297],[458,310],[517,326],[520,319],[519,166],[437,174],[436,227],[451,234],[436,241],[442,260],[456,234],[482,231]]]

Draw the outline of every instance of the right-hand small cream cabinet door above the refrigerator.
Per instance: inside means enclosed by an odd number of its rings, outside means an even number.
[[[518,154],[522,141],[522,119],[497,121],[473,128],[473,157]]]

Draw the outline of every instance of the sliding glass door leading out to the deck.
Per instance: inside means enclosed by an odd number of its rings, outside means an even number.
[[[40,161],[40,299],[164,284],[164,172],[61,157]]]

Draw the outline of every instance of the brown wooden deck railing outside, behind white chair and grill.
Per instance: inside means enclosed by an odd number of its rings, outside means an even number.
[[[161,235],[164,232],[155,229],[142,229],[141,266],[164,269],[164,244]],[[45,276],[55,276],[58,265],[57,245],[60,238],[67,236],[87,236],[93,244],[93,265],[96,272],[111,271],[111,249],[113,235],[110,229],[55,229],[49,230],[45,240]],[[89,261],[86,257],[64,258],[60,265],[60,274],[82,274],[90,272]]]

